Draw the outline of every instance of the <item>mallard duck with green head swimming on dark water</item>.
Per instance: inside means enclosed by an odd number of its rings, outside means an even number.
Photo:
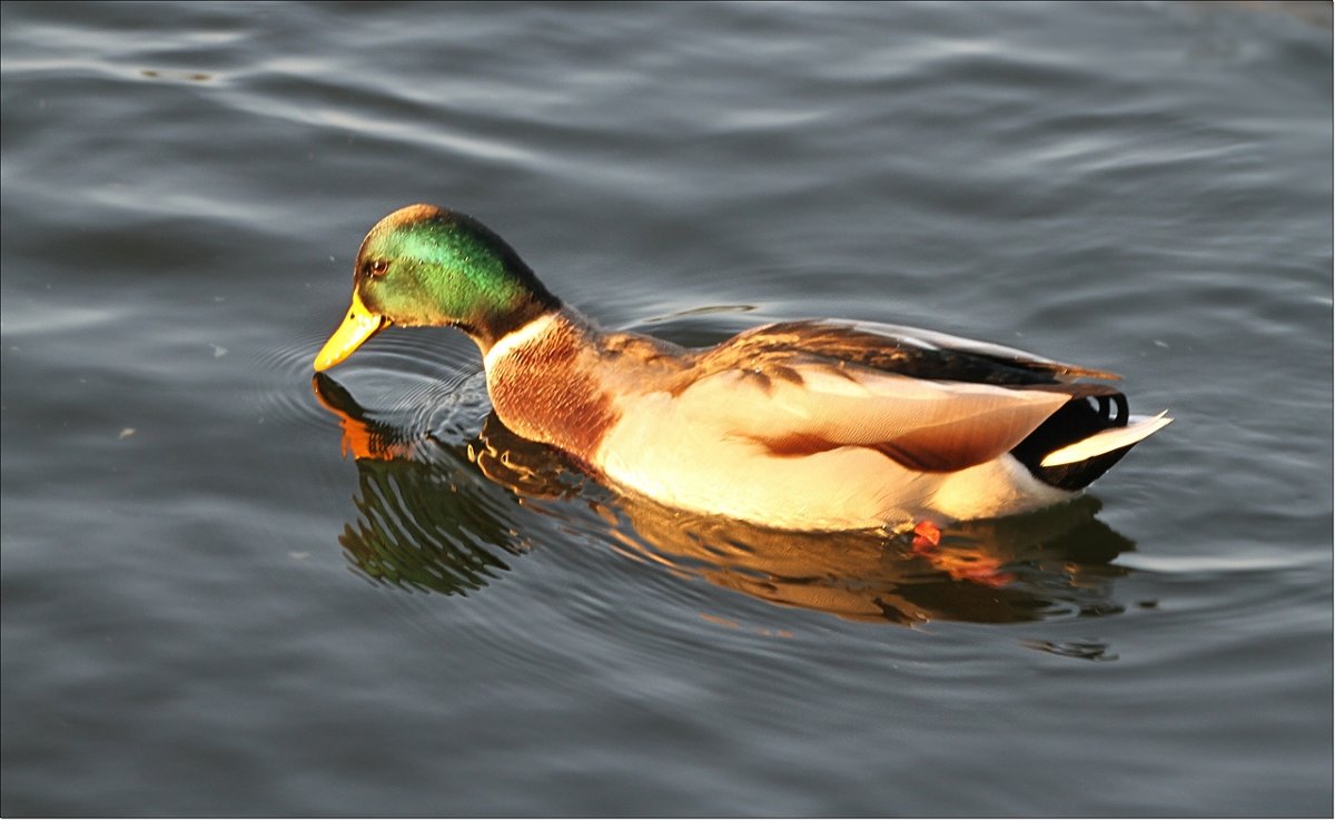
[[[1071,499],[1167,411],[1113,373],[897,325],[781,321],[708,349],[605,330],[482,222],[413,204],[362,242],[324,371],[388,327],[477,343],[491,406],[621,493],[770,529],[901,532]]]

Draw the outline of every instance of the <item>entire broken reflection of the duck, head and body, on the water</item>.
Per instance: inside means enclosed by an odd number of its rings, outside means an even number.
[[[372,578],[443,593],[478,589],[527,549],[514,505],[495,485],[521,499],[590,489],[559,451],[515,435],[495,414],[473,442],[413,439],[368,419],[328,377],[316,375],[314,387],[339,417],[343,449],[359,473],[359,520],[339,541]],[[1131,542],[1093,518],[1097,507],[1080,498],[1028,516],[959,524],[939,545],[904,536],[773,530],[633,495],[617,501],[629,526],[607,530],[602,518],[589,526],[635,560],[772,604],[866,621],[1012,622],[1119,609],[1111,584],[1121,570],[1108,562]]]

